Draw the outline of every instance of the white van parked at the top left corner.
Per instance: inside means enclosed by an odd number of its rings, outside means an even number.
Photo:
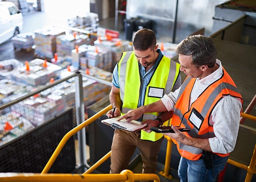
[[[12,2],[0,2],[0,44],[20,33],[23,16]]]

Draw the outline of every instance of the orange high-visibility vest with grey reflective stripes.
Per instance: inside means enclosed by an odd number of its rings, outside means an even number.
[[[195,102],[190,103],[190,95],[196,78],[187,77],[181,86],[177,102],[174,108],[172,125],[189,128],[191,131],[184,132],[191,138],[213,138],[215,137],[213,126],[209,124],[212,110],[223,96],[231,95],[241,99],[236,84],[223,68],[223,75],[220,79],[212,83],[199,95]],[[190,106],[191,105],[191,106]],[[241,110],[242,112],[242,110]],[[197,122],[192,123],[190,117],[196,117]],[[195,124],[196,123],[196,124]],[[189,160],[198,160],[202,156],[202,149],[187,146],[173,139],[177,145],[180,155]],[[225,157],[228,154],[215,153]]]

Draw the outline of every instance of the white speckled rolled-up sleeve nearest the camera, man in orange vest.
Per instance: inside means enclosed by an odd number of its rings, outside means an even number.
[[[212,111],[214,138],[209,138],[212,152],[227,154],[234,150],[237,141],[241,100],[232,96],[223,97]]]

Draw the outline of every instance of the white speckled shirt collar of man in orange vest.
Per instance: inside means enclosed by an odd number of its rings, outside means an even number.
[[[221,64],[221,61],[216,59],[216,64],[219,65],[219,68],[217,70],[215,70],[212,74],[206,76],[205,78],[203,79],[199,79],[197,78],[197,82],[200,82],[201,84],[210,84],[212,82],[215,82],[217,79],[219,79],[223,72],[222,72],[222,64]]]

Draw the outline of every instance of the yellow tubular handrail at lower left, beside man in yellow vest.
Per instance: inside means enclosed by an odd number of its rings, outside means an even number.
[[[68,141],[70,137],[72,137],[74,134],[76,134],[78,131],[82,130],[84,127],[89,125],[90,123],[94,122],[94,120],[98,119],[100,116],[105,114],[107,111],[112,109],[111,104],[105,108],[103,108],[101,111],[99,111],[97,114],[93,115],[83,123],[79,124],[75,128],[73,128],[71,131],[69,131],[63,139],[60,141],[59,145],[57,146],[56,150],[54,151],[52,157],[50,157],[48,163],[46,164],[45,168],[43,169],[40,177],[36,175],[32,176],[19,176],[17,177],[19,181],[21,181],[24,178],[24,181],[29,181],[28,179],[31,178],[31,181],[40,179],[40,181],[127,181],[127,182],[133,182],[133,181],[141,181],[141,180],[154,180],[155,182],[160,182],[160,179],[158,175],[156,174],[133,174],[132,171],[124,170],[120,174],[90,174],[92,173],[97,167],[99,167],[103,162],[105,162],[108,158],[110,158],[111,151],[109,151],[108,154],[106,154],[104,157],[102,157],[98,162],[96,162],[93,166],[91,166],[87,171],[85,171],[82,175],[68,175],[68,174],[50,174],[47,175],[45,173],[48,173],[50,167],[53,165],[53,162],[56,160],[57,156],[59,155],[61,149],[65,145],[65,143]],[[74,177],[74,178],[73,178]],[[5,178],[1,178],[5,179]],[[12,180],[11,178],[9,178]],[[16,177],[13,177],[13,179],[16,179]]]

